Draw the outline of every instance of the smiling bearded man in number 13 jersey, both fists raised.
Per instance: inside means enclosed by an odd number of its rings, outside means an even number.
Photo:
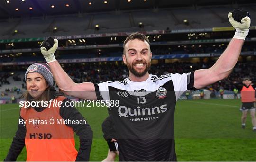
[[[51,67],[55,81],[65,94],[110,103],[116,126],[120,161],[176,161],[174,110],[176,101],[187,90],[201,89],[227,77],[238,61],[249,32],[247,11],[229,12],[235,36],[217,62],[209,69],[184,74],[151,75],[152,53],[147,37],[140,33],[124,41],[123,61],[129,78],[99,84],[74,83],[56,61],[57,39],[49,38],[41,52]]]

